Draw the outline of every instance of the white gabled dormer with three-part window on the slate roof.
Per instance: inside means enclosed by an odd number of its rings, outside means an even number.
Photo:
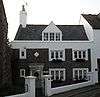
[[[42,31],[42,41],[55,42],[62,40],[62,31],[53,21]]]

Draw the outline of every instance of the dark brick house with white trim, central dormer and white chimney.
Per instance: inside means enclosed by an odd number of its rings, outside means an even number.
[[[92,38],[83,24],[55,25],[53,21],[49,25],[27,24],[23,6],[20,26],[11,42],[14,80],[25,76],[41,79],[42,75],[50,74],[52,87],[58,87],[88,81],[91,74],[92,83],[97,83],[95,40]]]

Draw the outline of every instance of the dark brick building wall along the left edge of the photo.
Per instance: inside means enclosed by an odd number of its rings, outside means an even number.
[[[8,46],[8,23],[3,1],[0,0],[0,87],[11,84],[10,47]]]

